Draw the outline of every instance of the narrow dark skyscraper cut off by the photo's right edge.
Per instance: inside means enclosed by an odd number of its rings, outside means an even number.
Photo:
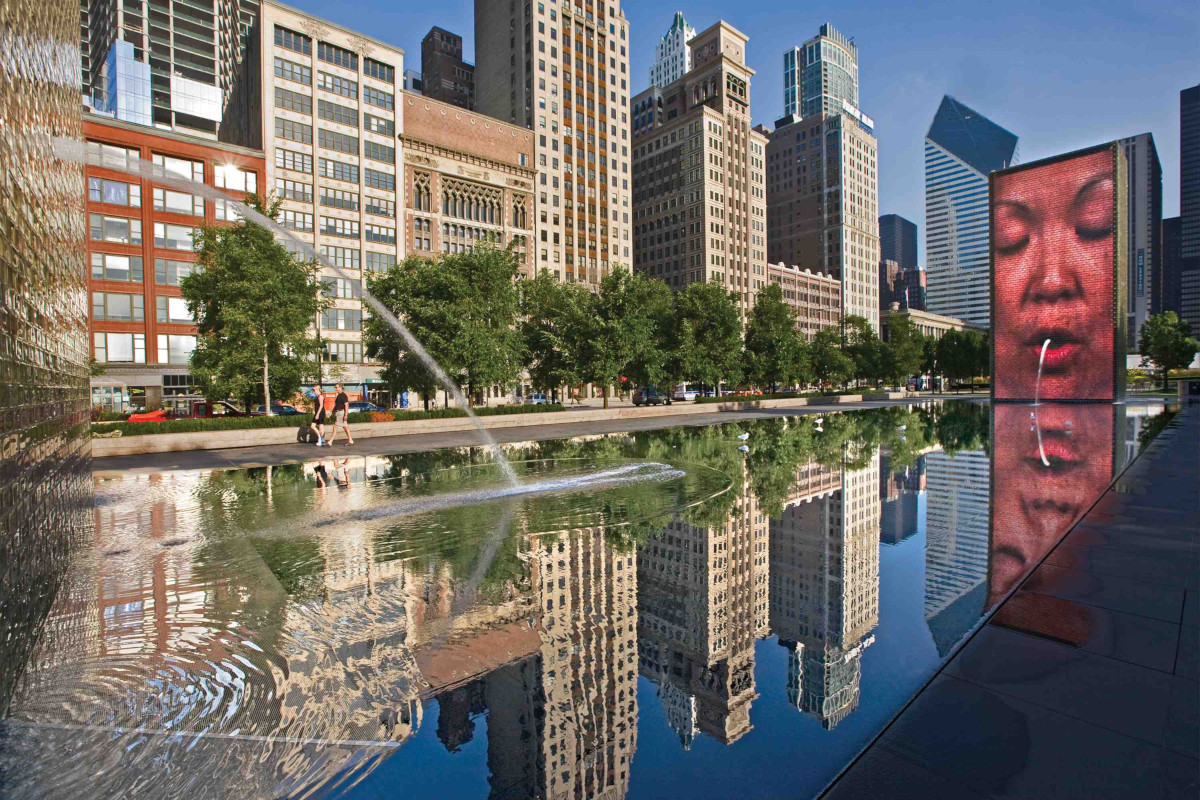
[[[1200,84],[1180,92],[1180,317],[1200,336]]]

